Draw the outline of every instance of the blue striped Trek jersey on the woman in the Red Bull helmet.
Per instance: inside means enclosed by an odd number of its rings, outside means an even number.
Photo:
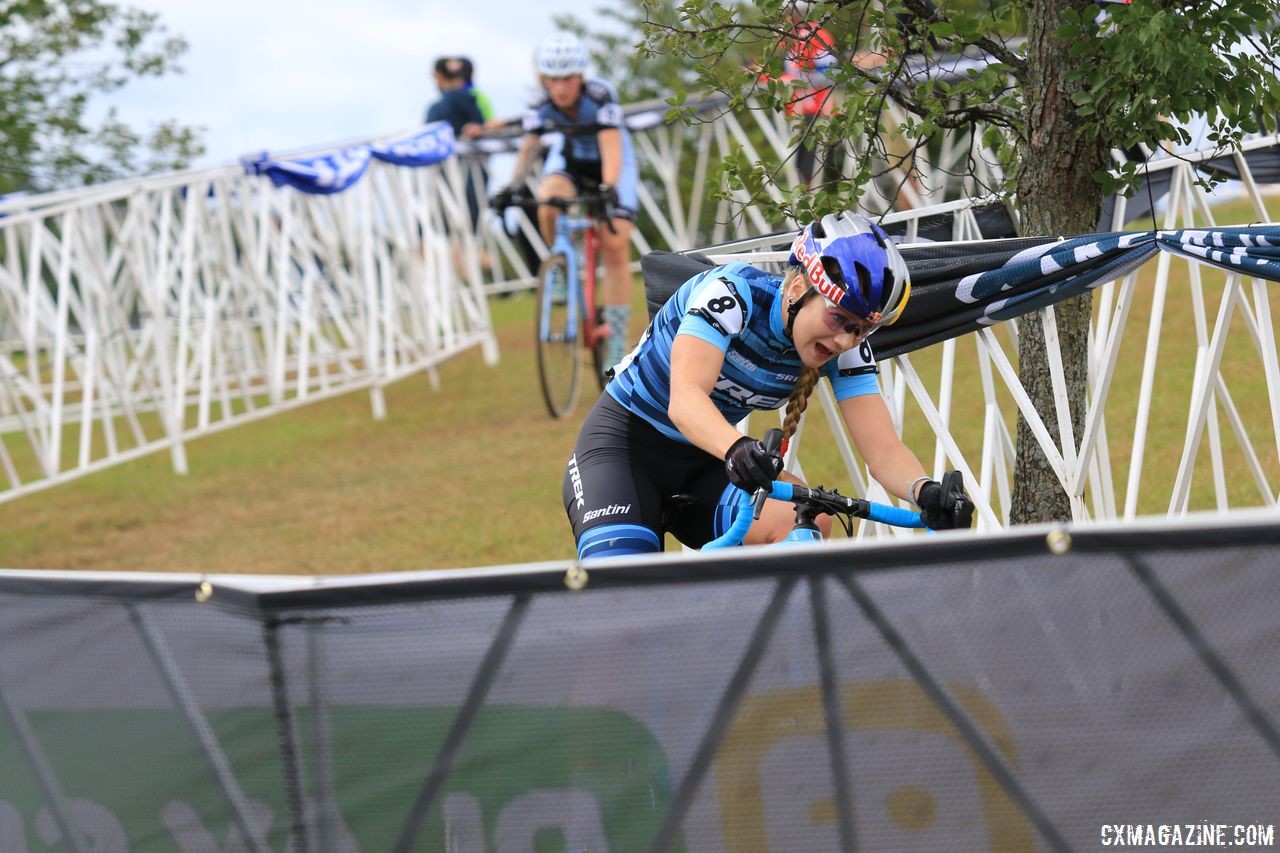
[[[782,277],[746,264],[713,266],[680,286],[614,371],[605,391],[660,433],[689,443],[671,423],[671,346],[691,334],[724,353],[712,402],[736,424],[753,410],[781,409],[804,369],[786,336]],[[879,393],[876,357],[861,346],[822,366],[836,400]]]

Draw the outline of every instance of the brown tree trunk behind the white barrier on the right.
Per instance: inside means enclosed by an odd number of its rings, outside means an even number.
[[[1032,0],[1027,4],[1027,140],[1018,173],[1018,199],[1021,229],[1028,236],[1068,237],[1092,233],[1097,227],[1101,190],[1093,174],[1107,167],[1108,149],[1075,114],[1071,93],[1082,85],[1065,78],[1080,60],[1074,59],[1069,45],[1053,35],[1062,10],[1091,6],[1089,0]],[[1091,295],[1085,293],[1055,306],[1076,441],[1084,425],[1092,304]],[[1050,434],[1061,444],[1039,314],[1019,320],[1018,333],[1023,387]],[[1019,416],[1010,521],[1070,519],[1071,502],[1027,421]]]

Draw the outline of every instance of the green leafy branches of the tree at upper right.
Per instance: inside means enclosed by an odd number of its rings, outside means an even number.
[[[700,120],[692,104],[708,92],[742,113],[785,114],[797,88],[783,76],[786,45],[805,37],[805,20],[831,35],[840,61],[824,78],[836,109],[791,126],[792,145],[817,154],[814,184],[795,184],[786,164],[763,156],[763,138],[751,142],[762,156],[744,149],[721,164],[721,193],[750,197],[778,222],[855,206],[870,182],[892,193],[902,169],[916,164],[904,154],[911,151],[937,169],[969,173],[968,192],[1021,200],[1052,196],[1046,187],[1056,186],[1043,169],[1024,168],[1032,156],[1079,164],[1075,173],[1092,174],[1101,197],[1139,177],[1132,165],[1114,169],[1108,152],[1184,140],[1171,119],[1217,115],[1211,138],[1230,146],[1280,115],[1280,28],[1253,32],[1280,19],[1280,0],[1103,8],[1080,0],[820,0],[804,8],[796,0],[612,0],[612,8],[640,44],[636,61],[614,51],[604,67],[632,88],[628,97],[662,97],[671,119],[690,123]],[[978,54],[996,61],[956,74],[940,64]],[[913,77],[913,67],[943,73]],[[952,160],[938,163],[945,137]],[[1082,210],[1096,204],[1091,192],[1074,195]]]

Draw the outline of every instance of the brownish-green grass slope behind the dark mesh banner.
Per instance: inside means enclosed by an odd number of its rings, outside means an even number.
[[[1220,223],[1253,218],[1243,204],[1216,214]],[[1155,265],[1143,272],[1107,410],[1120,489]],[[1167,507],[1194,371],[1188,275],[1180,263],[1174,269],[1142,512]],[[1210,324],[1220,292],[1219,284],[1204,287]],[[636,305],[639,324],[639,297]],[[383,421],[370,416],[369,394],[356,392],[202,438],[187,447],[187,476],[173,473],[168,453],[156,453],[0,505],[0,566],[334,574],[571,557],[559,488],[579,424],[544,414],[534,374],[531,298],[495,300],[492,307],[502,346],[497,368],[485,366],[474,351],[440,368],[439,389],[425,377],[397,383],[387,389]],[[972,339],[963,341],[959,361],[972,362],[973,350]],[[913,364],[936,387],[937,355],[916,353]],[[1222,373],[1275,482],[1280,460],[1266,382],[1243,334],[1233,336]],[[977,465],[982,398],[977,374],[966,382],[972,384],[956,389],[954,432]],[[580,403],[580,415],[588,405]],[[908,411],[908,441],[928,465],[932,439],[914,407]],[[763,429],[765,421],[759,423]],[[844,487],[835,444],[823,432],[805,435],[805,471],[810,482]],[[1224,448],[1233,505],[1257,505],[1258,491],[1225,420]],[[1201,473],[1193,506],[1211,505],[1212,484]]]

